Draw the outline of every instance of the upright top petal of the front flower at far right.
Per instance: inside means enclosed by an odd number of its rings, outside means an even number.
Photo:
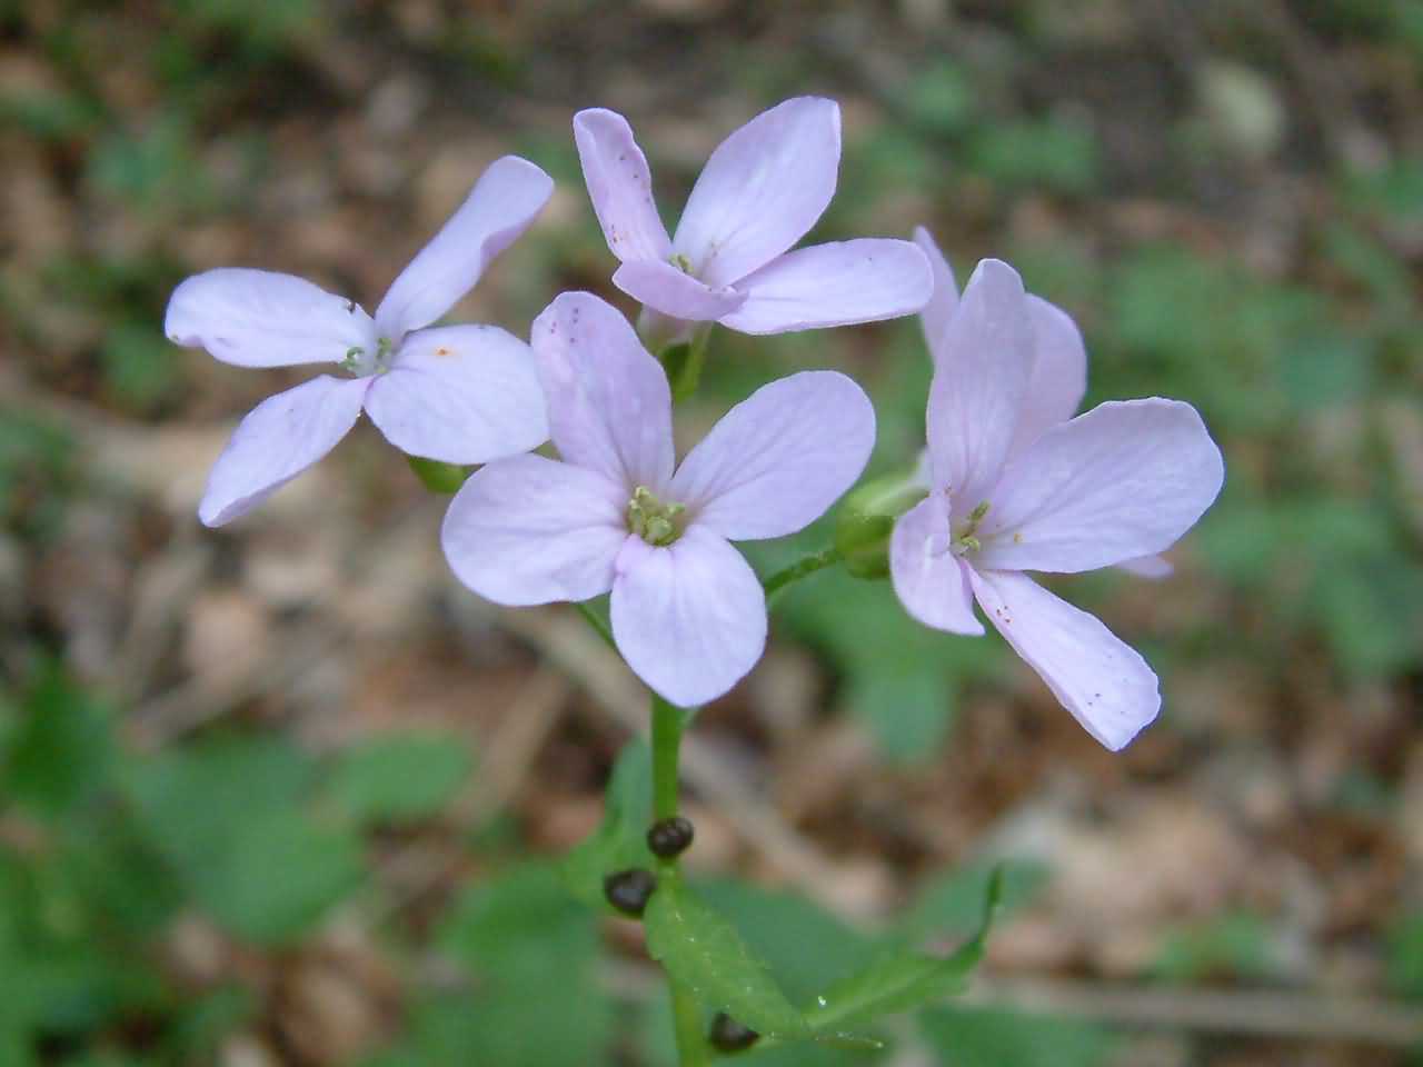
[[[943,331],[929,386],[929,467],[966,515],[998,482],[1033,367],[1033,334],[1017,272],[985,259]]]

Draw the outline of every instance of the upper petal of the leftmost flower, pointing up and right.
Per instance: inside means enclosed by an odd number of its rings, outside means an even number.
[[[528,159],[507,155],[490,164],[380,302],[376,324],[381,336],[398,340],[454,307],[494,258],[529,228],[552,192],[554,179]]]

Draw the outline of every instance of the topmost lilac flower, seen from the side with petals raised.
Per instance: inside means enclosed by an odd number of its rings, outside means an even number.
[[[723,141],[672,239],[628,120],[603,108],[579,111],[573,138],[593,211],[622,260],[613,285],[683,327],[719,322],[741,333],[785,333],[912,314],[929,299],[929,266],[906,240],[788,250],[835,192],[832,100],[787,100]]]

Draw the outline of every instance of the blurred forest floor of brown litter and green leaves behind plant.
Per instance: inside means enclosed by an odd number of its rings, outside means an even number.
[[[692,731],[693,871],[804,994],[884,938],[953,945],[1007,862],[975,992],[888,1027],[892,1067],[1416,1061],[1423,4],[9,0],[0,1064],[670,1063],[638,928],[554,866],[636,683],[569,609],[458,586],[444,499],[366,424],[199,526],[235,420],[306,374],[161,322],[215,266],[373,307],[505,152],[558,191],[455,317],[632,312],[572,112],[630,118],[675,221],[804,92],[845,127],[811,239],[1009,259],[1081,324],[1089,403],[1195,404],[1228,484],[1174,578],[1053,582],[1161,674],[1121,755],[996,635],[797,586]],[[825,366],[875,397],[875,469],[911,461],[914,320],[719,331],[680,430]]]

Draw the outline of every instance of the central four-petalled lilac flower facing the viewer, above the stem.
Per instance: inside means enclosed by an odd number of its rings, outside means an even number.
[[[618,650],[643,681],[684,707],[721,696],[767,625],[730,542],[794,534],[854,484],[875,438],[868,397],[834,371],[773,381],[677,465],[667,376],[615,309],[564,293],[532,344],[561,461],[471,475],[444,521],[450,566],[501,605],[612,590]]]

